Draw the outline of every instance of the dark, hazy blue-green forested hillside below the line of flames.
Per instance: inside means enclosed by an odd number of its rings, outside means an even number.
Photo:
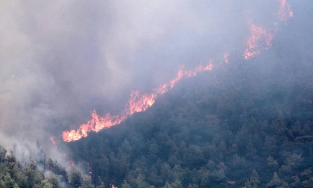
[[[69,143],[117,187],[313,187],[312,65],[274,59],[216,66],[145,112]],[[279,49],[279,50],[278,50]]]

